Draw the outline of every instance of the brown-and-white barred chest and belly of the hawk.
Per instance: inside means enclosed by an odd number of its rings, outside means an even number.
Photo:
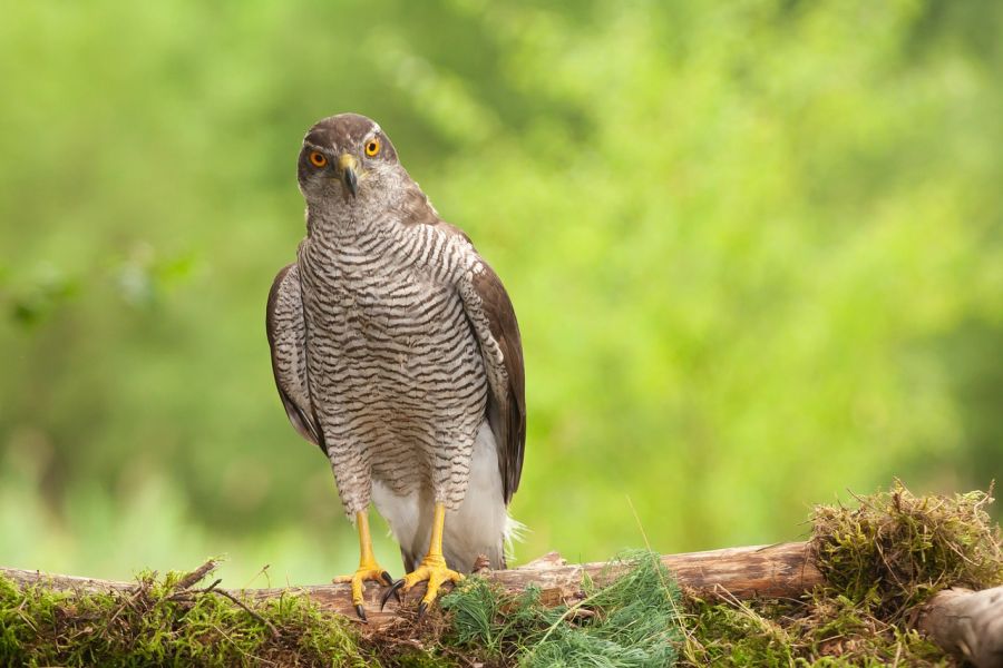
[[[402,450],[425,453],[429,465],[437,450],[469,451],[487,396],[452,283],[392,243],[311,238],[300,250],[318,418],[327,438],[358,448],[384,480]],[[389,482],[403,489],[416,480]]]

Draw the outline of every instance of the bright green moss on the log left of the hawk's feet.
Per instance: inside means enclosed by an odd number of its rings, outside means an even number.
[[[306,598],[271,599],[252,615],[177,590],[178,580],[144,573],[129,592],[70,595],[0,578],[0,665],[371,665],[349,622]]]

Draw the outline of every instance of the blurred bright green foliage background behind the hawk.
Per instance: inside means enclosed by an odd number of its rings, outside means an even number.
[[[264,335],[344,110],[515,302],[519,561],[1003,472],[999,2],[2,4],[2,564],[354,567]]]

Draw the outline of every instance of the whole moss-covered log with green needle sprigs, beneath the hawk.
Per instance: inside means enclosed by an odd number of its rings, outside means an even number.
[[[345,586],[225,590],[205,584],[213,562],[134,582],[0,569],[0,666],[999,666],[991,502],[896,484],[817,507],[808,542],[586,564],[552,553],[479,571],[418,623],[421,591],[380,612],[370,587],[362,625]]]

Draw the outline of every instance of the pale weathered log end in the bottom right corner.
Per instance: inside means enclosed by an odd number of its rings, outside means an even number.
[[[918,626],[978,668],[1003,668],[1003,587],[941,591],[924,607]]]

